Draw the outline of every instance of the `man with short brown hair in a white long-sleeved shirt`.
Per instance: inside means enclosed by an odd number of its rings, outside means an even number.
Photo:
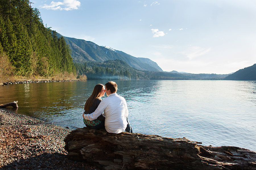
[[[117,84],[109,81],[105,84],[107,98],[100,102],[98,108],[91,114],[84,114],[87,120],[95,120],[104,111],[105,129],[110,133],[122,131],[133,132],[128,120],[128,108],[123,97],[116,94]]]

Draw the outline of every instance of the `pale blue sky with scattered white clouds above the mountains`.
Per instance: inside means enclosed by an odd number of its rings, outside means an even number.
[[[229,74],[256,63],[254,0],[31,0],[65,37],[149,58],[163,71]]]

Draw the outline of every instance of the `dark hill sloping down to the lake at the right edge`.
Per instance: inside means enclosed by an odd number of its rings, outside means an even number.
[[[256,64],[228,75],[224,80],[256,81]]]

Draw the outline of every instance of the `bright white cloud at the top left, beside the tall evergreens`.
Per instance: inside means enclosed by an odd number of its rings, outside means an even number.
[[[77,0],[63,0],[63,2],[51,1],[50,5],[44,4],[41,8],[51,9],[51,10],[73,10],[78,9],[81,3]]]

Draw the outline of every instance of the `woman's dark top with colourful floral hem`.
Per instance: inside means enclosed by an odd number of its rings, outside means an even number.
[[[95,101],[93,102],[92,106],[89,108],[89,111],[84,111],[84,114],[91,114],[92,112],[94,112],[98,105],[100,104],[100,102],[102,101],[102,99],[96,98]],[[98,124],[101,123],[101,121],[105,120],[105,116],[103,116],[102,114],[95,120],[86,120],[84,119],[84,124],[89,125],[89,126],[96,126]]]

